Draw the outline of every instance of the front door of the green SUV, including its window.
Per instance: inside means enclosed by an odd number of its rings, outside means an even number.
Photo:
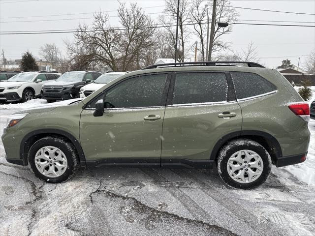
[[[80,141],[86,160],[160,164],[168,74],[127,78],[106,89],[81,113]],[[94,117],[103,99],[104,114]]]

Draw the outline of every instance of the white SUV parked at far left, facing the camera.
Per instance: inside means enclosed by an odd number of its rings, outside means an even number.
[[[60,75],[48,71],[19,73],[7,81],[0,82],[0,102],[31,100],[40,95],[43,84],[57,79]]]

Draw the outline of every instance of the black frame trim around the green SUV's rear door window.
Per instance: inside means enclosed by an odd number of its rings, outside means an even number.
[[[220,73],[225,74],[225,80],[227,83],[227,96],[226,101],[220,101],[220,102],[201,102],[201,103],[186,103],[186,104],[173,104],[173,93],[174,93],[174,87],[175,87],[175,80],[177,74],[181,73]],[[167,95],[167,103],[166,107],[186,107],[186,106],[204,106],[204,105],[216,105],[216,104],[227,104],[236,102],[236,94],[234,85],[232,82],[231,75],[229,74],[229,71],[221,71],[221,70],[194,70],[194,71],[173,71],[172,72],[172,78],[171,78],[171,84],[169,86],[169,91]]]

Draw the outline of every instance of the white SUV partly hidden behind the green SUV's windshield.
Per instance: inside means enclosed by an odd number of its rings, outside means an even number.
[[[99,76],[93,83],[88,84],[80,89],[80,97],[87,97],[97,89],[102,88],[107,83],[118,78],[121,75],[125,75],[126,72],[106,72]]]

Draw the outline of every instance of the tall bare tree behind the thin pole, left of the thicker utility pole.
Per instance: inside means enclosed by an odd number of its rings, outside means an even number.
[[[176,33],[175,29],[171,27],[176,24],[177,19],[177,1],[174,0],[166,0],[165,1],[165,14],[160,16],[160,22],[164,26],[168,37],[174,42],[174,51],[175,51],[175,41],[176,41]],[[190,9],[189,9],[189,1],[181,0],[179,6],[179,14],[178,14],[178,25],[179,25],[179,45],[181,46],[178,50],[178,58],[180,62],[185,61],[185,57],[187,57],[188,53],[185,49],[185,43],[188,42],[189,39],[189,28],[186,26],[189,23],[190,17]]]

